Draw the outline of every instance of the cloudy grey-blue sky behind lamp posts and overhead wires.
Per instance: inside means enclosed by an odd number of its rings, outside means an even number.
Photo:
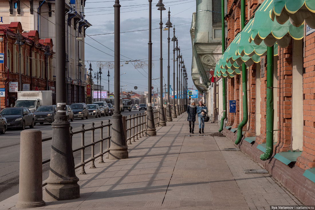
[[[85,37],[85,65],[97,72],[97,61],[114,61],[114,0],[92,0],[86,1],[84,15],[85,19],[92,24],[86,29]],[[153,91],[160,87],[160,11],[155,5],[158,0],[152,2],[152,86]],[[191,78],[192,63],[192,42],[190,37],[190,27],[192,13],[196,12],[196,0],[164,0],[166,10],[162,11],[163,28],[168,20],[170,8],[170,21],[175,25],[175,36],[178,38],[178,46],[183,56],[188,76],[188,87],[193,86]],[[148,61],[148,40],[149,40],[149,3],[147,0],[120,0],[120,85],[123,90],[128,91],[147,91],[148,88],[148,69],[135,69],[134,62],[125,64],[125,61],[140,60]],[[178,25],[178,26],[177,26]],[[140,31],[141,30],[141,31]],[[133,32],[131,32],[133,31]],[[124,32],[124,33],[122,33]],[[163,44],[163,77],[167,84],[168,66],[168,31],[162,31]],[[170,28],[170,38],[173,37],[173,28]],[[90,46],[91,45],[91,46]],[[176,43],[175,43],[176,45]],[[93,46],[93,47],[92,47]],[[124,57],[125,56],[125,57]],[[176,56],[176,52],[175,52]],[[109,70],[110,92],[114,91],[114,69]],[[102,69],[101,85],[108,89],[108,69]],[[176,62],[175,62],[176,73]],[[93,74],[93,72],[92,72]],[[96,83],[96,80],[95,80]],[[175,79],[176,83],[176,79]],[[127,86],[124,86],[127,85]],[[163,80],[164,85],[164,80]],[[173,87],[173,42],[170,41],[170,85]],[[138,89],[135,90],[134,87]],[[194,89],[196,89],[193,86]]]

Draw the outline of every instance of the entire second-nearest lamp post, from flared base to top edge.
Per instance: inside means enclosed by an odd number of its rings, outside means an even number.
[[[109,148],[109,159],[126,159],[128,158],[127,141],[125,141],[125,134],[123,133],[123,120],[120,112],[120,4],[119,0],[115,0],[114,4],[114,99],[115,110],[112,115],[112,139],[111,146]]]

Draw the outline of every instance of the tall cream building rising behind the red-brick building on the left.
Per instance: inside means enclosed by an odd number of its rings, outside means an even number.
[[[85,102],[86,68],[84,60],[85,30],[91,24],[84,19],[85,0],[65,1],[66,11],[66,83],[67,101]],[[4,24],[20,21],[24,32],[37,30],[41,38],[55,41],[55,1],[1,0],[0,16]],[[53,46],[52,50],[55,51]],[[55,58],[52,59],[54,74]]]

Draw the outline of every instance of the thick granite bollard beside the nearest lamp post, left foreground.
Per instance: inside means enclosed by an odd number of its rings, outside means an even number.
[[[19,200],[15,207],[45,206],[43,201],[42,132],[31,129],[21,132]]]

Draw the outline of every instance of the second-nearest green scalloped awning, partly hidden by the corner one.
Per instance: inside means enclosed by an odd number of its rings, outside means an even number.
[[[295,27],[290,22],[281,25],[277,21],[272,21],[271,11],[274,1],[265,0],[256,10],[250,38],[257,45],[264,41],[268,47],[271,47],[277,42],[279,47],[285,48],[291,38],[300,40],[304,37],[304,25]]]

